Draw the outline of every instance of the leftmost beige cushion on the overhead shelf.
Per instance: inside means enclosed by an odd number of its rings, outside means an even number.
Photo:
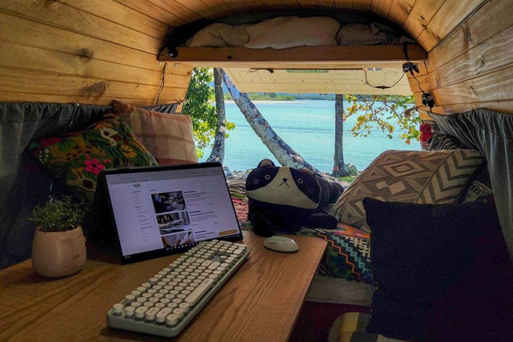
[[[243,46],[249,40],[245,25],[212,24],[192,36],[189,47]]]

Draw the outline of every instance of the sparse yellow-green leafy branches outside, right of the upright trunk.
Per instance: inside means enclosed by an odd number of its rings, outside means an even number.
[[[396,130],[393,122],[397,122],[399,125],[397,129],[403,131],[400,138],[406,144],[409,145],[411,139],[419,140],[418,127],[421,119],[413,95],[367,95],[366,97],[345,95],[345,97],[349,106],[344,108],[344,121],[357,112],[363,112],[358,115],[357,123],[351,128],[353,136],[366,137],[373,130],[381,130],[387,132],[387,136],[391,139],[392,133]]]

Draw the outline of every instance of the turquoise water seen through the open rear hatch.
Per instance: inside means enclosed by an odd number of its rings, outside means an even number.
[[[327,100],[255,101],[257,108],[272,129],[303,158],[320,171],[333,169],[335,102]],[[252,169],[263,158],[277,165],[271,152],[253,132],[249,123],[232,101],[226,102],[226,119],[235,123],[226,139],[224,164],[232,171]],[[420,143],[406,145],[394,132],[393,139],[386,133],[373,131],[368,137],[353,137],[351,127],[357,122],[352,115],[344,122],[344,162],[358,170],[365,169],[374,158],[386,150],[420,150]],[[396,126],[397,127],[397,126]],[[205,150],[204,161],[210,155]]]

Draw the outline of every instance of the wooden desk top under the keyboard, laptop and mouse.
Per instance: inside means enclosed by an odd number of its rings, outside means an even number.
[[[249,259],[176,341],[286,341],[326,246],[294,236],[298,253],[263,247],[244,232]],[[178,256],[114,265],[88,260],[76,275],[48,279],[30,260],[0,271],[0,340],[169,340],[109,328],[107,310]]]

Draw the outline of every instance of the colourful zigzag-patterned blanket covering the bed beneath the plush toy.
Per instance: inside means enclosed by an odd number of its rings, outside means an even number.
[[[246,179],[227,177],[227,182],[239,224],[243,230],[251,231],[251,223],[248,220]],[[327,246],[317,270],[318,275],[376,285],[370,272],[369,233],[339,224],[337,229],[331,230],[305,228],[296,235],[326,240]]]

